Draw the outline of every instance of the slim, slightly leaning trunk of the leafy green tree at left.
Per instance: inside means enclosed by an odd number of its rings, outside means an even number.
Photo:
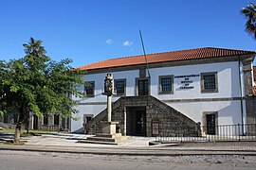
[[[19,120],[18,120],[18,123],[17,123],[16,128],[15,128],[13,144],[21,144],[21,127],[24,123],[26,114],[27,114],[26,107],[21,107],[20,108]]]

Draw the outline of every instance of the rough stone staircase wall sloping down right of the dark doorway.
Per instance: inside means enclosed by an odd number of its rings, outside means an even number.
[[[147,106],[147,136],[153,134],[153,123],[158,122],[158,136],[201,136],[200,123],[195,123],[181,112],[150,97]]]

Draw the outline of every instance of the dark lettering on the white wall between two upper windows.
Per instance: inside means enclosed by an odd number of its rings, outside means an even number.
[[[182,76],[174,76],[175,79],[179,81],[180,84],[179,90],[190,90],[193,89],[193,78],[199,77],[199,75],[182,75]]]

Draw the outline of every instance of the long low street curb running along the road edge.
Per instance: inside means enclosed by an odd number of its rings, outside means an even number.
[[[70,148],[69,148],[70,149]],[[69,150],[68,147],[63,148],[27,148],[24,146],[3,146],[0,145],[0,150],[12,151],[29,151],[29,152],[55,152],[55,153],[70,153],[70,154],[94,154],[94,155],[125,155],[125,156],[196,156],[196,155],[243,155],[256,156],[255,150],[158,150],[158,149],[95,149],[87,148],[80,150]],[[73,148],[71,148],[73,149]]]

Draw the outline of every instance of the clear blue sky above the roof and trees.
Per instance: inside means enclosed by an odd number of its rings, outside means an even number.
[[[256,50],[240,10],[247,0],[0,0],[0,59],[42,40],[73,67],[103,59],[198,47]],[[256,65],[256,62],[254,63]]]

